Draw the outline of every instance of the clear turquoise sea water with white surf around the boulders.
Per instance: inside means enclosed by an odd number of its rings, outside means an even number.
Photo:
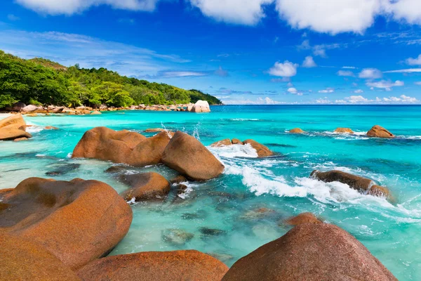
[[[118,192],[126,190],[115,174],[105,173],[112,163],[69,159],[83,133],[95,126],[140,133],[155,127],[178,129],[205,145],[222,138],[253,138],[279,154],[258,159],[247,146],[210,148],[225,164],[225,173],[206,183],[187,183],[190,192],[185,199],[172,190],[166,202],[134,204],[131,229],[112,254],[198,249],[231,266],[285,234],[290,228],[283,219],[312,211],[352,233],[399,280],[421,279],[421,106],[249,105],[212,110],[210,114],[128,111],[27,117],[29,124],[41,127],[30,129],[34,135],[30,141],[0,142],[0,188],[40,176],[96,179]],[[375,124],[399,137],[363,136]],[[60,130],[41,130],[47,125]],[[331,133],[338,126],[350,127],[356,134]],[[286,133],[295,127],[309,133]],[[392,191],[396,203],[361,195],[340,183],[309,179],[313,169],[340,169],[373,178]],[[61,174],[47,176],[51,171]],[[176,175],[162,165],[128,167],[125,172],[136,171],[158,171],[168,179]],[[259,208],[269,211],[255,211]],[[170,241],[171,229],[194,237],[185,244]]]

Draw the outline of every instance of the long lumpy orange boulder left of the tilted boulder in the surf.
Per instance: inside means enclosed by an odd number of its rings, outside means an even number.
[[[132,166],[161,162],[163,150],[171,134],[161,132],[151,138],[132,131],[114,131],[96,127],[86,133],[73,150],[73,158],[94,158]]]

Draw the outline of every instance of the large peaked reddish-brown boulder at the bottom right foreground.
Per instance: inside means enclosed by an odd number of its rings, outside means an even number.
[[[397,281],[345,230],[326,223],[295,226],[234,263],[222,281]]]

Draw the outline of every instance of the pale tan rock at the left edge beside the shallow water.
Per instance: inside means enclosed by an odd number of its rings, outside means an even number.
[[[0,120],[0,141],[12,141],[16,138],[32,138],[26,130],[22,115],[12,115]]]

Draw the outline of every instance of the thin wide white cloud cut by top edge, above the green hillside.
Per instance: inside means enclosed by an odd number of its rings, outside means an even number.
[[[132,11],[154,11],[159,0],[16,0],[18,4],[38,13],[50,15],[72,15],[91,6],[109,5]]]

